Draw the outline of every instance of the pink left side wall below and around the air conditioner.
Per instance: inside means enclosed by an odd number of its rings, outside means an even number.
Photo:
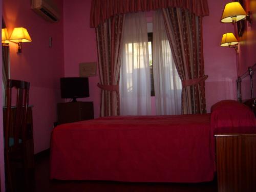
[[[62,15],[62,1],[57,1]],[[14,27],[27,28],[32,42],[10,43],[10,78],[31,83],[30,104],[33,105],[35,153],[50,146],[53,122],[57,121],[57,102],[60,102],[59,77],[63,76],[63,17],[49,23],[30,9],[30,0],[4,0],[3,16],[9,34]],[[49,37],[53,46],[49,48]]]

